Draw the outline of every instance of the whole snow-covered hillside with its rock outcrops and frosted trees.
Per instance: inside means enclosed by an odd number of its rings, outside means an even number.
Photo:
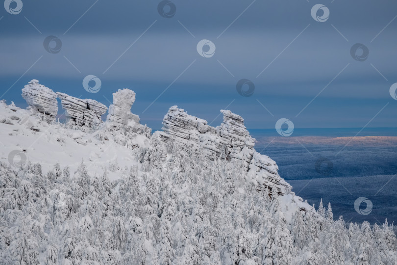
[[[151,134],[128,89],[105,122],[37,80],[23,97],[0,101],[1,264],[397,264],[387,221],[303,202],[229,110],[211,127],[173,106]]]

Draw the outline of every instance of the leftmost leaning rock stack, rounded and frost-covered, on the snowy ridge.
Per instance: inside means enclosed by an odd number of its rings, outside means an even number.
[[[22,89],[22,97],[33,115],[44,114],[48,123],[55,120],[58,113],[57,95],[50,88],[33,79]]]

